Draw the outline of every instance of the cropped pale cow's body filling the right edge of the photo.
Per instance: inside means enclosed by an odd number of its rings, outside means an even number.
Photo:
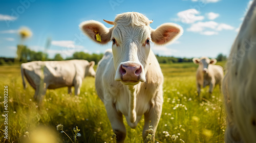
[[[225,142],[256,142],[256,1],[244,17],[226,64],[222,91]]]

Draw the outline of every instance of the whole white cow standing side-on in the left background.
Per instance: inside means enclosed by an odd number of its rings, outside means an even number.
[[[94,61],[69,60],[69,61],[33,61],[23,63],[21,66],[24,89],[26,83],[24,76],[29,84],[35,89],[34,99],[41,102],[46,89],[55,89],[68,86],[71,94],[71,87],[75,87],[75,95],[79,95],[82,80],[86,76],[95,77],[93,69]]]

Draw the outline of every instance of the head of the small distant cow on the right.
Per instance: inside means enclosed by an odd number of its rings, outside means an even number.
[[[209,64],[216,64],[217,60],[216,59],[209,59],[209,58],[206,58],[206,57],[202,57],[201,59],[193,58],[193,62],[195,64],[199,64],[198,68],[203,73],[208,73],[208,66],[209,66]]]

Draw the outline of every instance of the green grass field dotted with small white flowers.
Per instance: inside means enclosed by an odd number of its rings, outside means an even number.
[[[224,62],[217,62],[224,66]],[[156,142],[224,142],[225,108],[217,86],[209,95],[206,87],[197,96],[194,63],[162,64],[164,104],[155,134]],[[103,103],[97,97],[94,78],[84,79],[80,96],[70,96],[68,88],[48,90],[40,108],[33,101],[34,89],[23,89],[20,66],[0,66],[0,106],[4,114],[4,86],[8,85],[9,142],[71,142],[56,130],[58,124],[73,139],[73,128],[80,129],[78,142],[115,142]],[[143,117],[142,117],[143,118]],[[0,119],[0,142],[4,142],[4,117]],[[124,120],[125,121],[125,120]],[[125,121],[126,122],[126,121]],[[125,142],[143,142],[143,119],[136,129],[125,123]],[[25,133],[28,131],[28,135]],[[172,135],[177,135],[176,140]],[[73,139],[74,141],[74,139]],[[6,140],[6,142],[8,142]]]

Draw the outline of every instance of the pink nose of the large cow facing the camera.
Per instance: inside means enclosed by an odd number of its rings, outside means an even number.
[[[120,66],[120,74],[122,77],[122,81],[138,81],[140,78],[140,73],[142,68],[137,63],[125,63]]]

